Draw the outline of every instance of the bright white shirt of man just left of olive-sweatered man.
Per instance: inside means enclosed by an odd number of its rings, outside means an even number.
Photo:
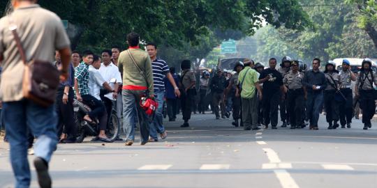
[[[119,72],[119,68],[117,65],[114,65],[114,63],[110,63],[109,65],[105,66],[105,64],[101,63],[101,68],[99,69],[99,72],[101,73],[101,76],[105,81],[107,81],[112,89],[114,89],[114,84],[110,83],[111,79],[116,79],[117,83],[121,84],[121,75]],[[112,93],[108,93],[105,95],[105,97],[108,97],[110,100],[114,100],[112,97]]]

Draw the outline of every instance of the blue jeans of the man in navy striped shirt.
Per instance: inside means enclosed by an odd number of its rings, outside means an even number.
[[[165,96],[165,91],[157,90],[154,92],[155,100],[158,103],[156,113],[153,122],[149,124],[149,134],[152,139],[158,140],[157,132],[162,134],[165,132],[165,127],[163,127],[163,97]]]

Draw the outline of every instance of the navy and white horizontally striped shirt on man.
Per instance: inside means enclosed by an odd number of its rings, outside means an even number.
[[[165,90],[165,82],[163,78],[169,72],[169,66],[162,59],[156,58],[156,60],[151,62],[153,70],[153,84],[154,91],[157,89]]]

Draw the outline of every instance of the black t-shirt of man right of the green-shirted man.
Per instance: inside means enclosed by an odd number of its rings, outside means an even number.
[[[271,78],[263,82],[263,94],[271,95],[280,92],[280,86],[283,86],[281,73],[275,69],[267,68],[260,73],[259,79],[264,79],[267,75],[270,75]]]

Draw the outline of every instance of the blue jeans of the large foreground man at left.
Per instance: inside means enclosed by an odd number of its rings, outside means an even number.
[[[3,103],[3,118],[10,143],[10,162],[16,179],[15,187],[30,186],[30,169],[27,160],[28,134],[31,130],[38,138],[34,155],[50,162],[57,149],[57,114],[54,105],[44,108],[30,100]]]

